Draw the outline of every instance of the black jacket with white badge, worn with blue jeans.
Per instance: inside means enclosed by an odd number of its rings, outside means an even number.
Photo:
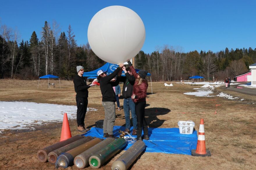
[[[130,75],[129,73],[125,73],[125,76],[118,77],[120,81],[124,82],[122,95],[124,98],[130,98],[132,95],[133,85],[135,82],[134,76]],[[125,88],[127,87],[126,91]]]

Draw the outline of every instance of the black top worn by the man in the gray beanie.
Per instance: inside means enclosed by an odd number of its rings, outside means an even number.
[[[86,80],[84,77],[80,77],[78,74],[74,76],[74,87],[77,93],[77,97],[86,97],[88,98],[88,88],[89,85],[86,85]]]

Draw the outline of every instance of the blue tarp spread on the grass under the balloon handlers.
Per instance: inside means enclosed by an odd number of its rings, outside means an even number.
[[[125,127],[114,126],[114,136],[119,137],[119,130],[125,131]],[[179,128],[149,128],[148,133],[150,140],[143,140],[146,144],[145,152],[191,155],[191,149],[196,149],[197,131],[193,131],[193,134],[190,135],[184,135],[179,133]],[[83,135],[103,138],[103,129],[92,127]],[[129,149],[132,145],[128,144],[124,150]]]

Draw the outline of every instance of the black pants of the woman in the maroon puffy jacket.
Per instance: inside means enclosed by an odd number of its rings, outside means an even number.
[[[137,127],[138,128],[147,126],[147,122],[145,119],[145,107],[146,107],[146,102],[135,103],[135,113],[137,116]]]

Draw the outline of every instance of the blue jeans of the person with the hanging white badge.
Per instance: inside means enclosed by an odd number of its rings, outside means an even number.
[[[135,113],[135,103],[131,98],[124,98],[124,112],[125,112],[125,128],[130,129],[130,111],[133,129],[137,129],[137,116]]]

